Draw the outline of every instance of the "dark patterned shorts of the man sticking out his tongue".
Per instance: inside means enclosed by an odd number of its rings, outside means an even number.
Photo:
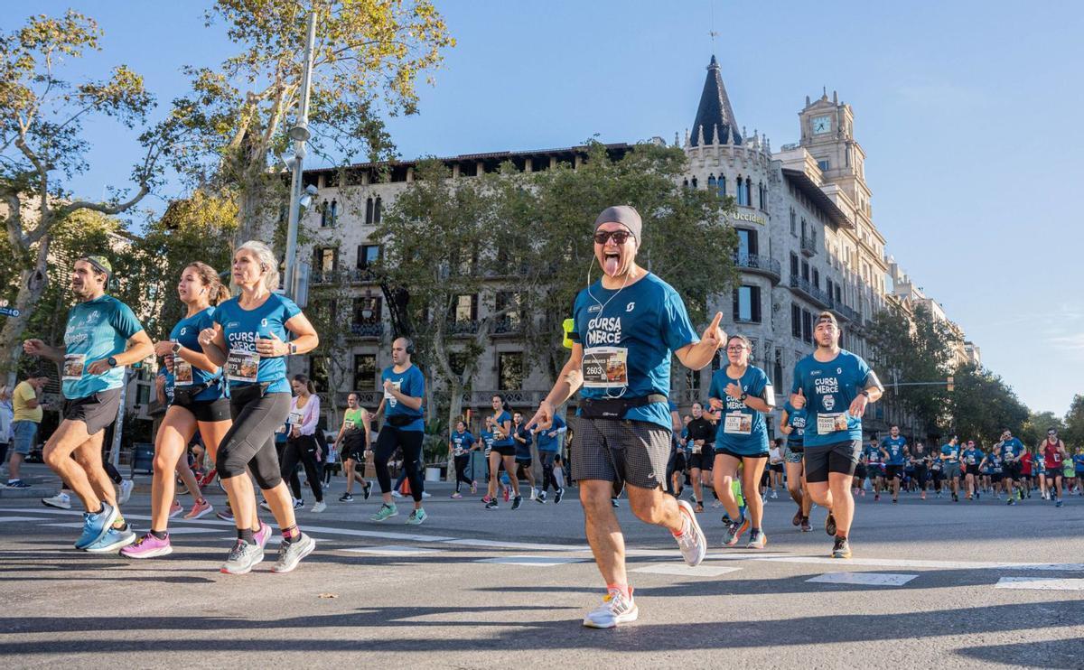
[[[572,479],[624,484],[642,489],[663,486],[670,460],[671,431],[643,421],[577,416],[572,434]]]

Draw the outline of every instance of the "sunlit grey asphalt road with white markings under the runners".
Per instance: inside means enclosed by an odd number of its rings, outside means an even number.
[[[146,528],[142,478],[125,505]],[[317,552],[289,575],[273,559],[218,572],[229,524],[173,519],[175,553],[136,562],[77,552],[79,511],[0,499],[0,657],[38,667],[1084,667],[1084,499],[859,500],[854,558],[831,561],[792,504],[766,505],[762,552],[721,546],[684,567],[668,533],[618,510],[640,620],[580,620],[603,595],[575,492],[487,512],[437,485],[421,527],[369,502],[299,520]],[[224,497],[210,495],[216,505]],[[182,499],[182,502],[188,502]],[[309,501],[311,504],[311,500]],[[274,540],[273,540],[274,542]]]

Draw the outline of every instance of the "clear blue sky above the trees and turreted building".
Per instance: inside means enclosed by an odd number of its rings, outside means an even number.
[[[104,51],[74,65],[128,63],[162,101],[183,64],[230,52],[203,3],[53,2],[98,18]],[[421,114],[392,119],[400,154],[451,155],[672,141],[696,112],[712,52],[738,124],[774,147],[822,87],[855,114],[874,219],[889,253],[941,301],[1033,410],[1064,413],[1084,392],[1084,3],[697,0],[439,2],[459,46]],[[29,12],[27,8],[26,12]],[[709,36],[714,14],[714,43]],[[9,22],[13,24],[14,20]],[[138,149],[116,125],[88,126],[87,196],[120,185]],[[168,193],[167,196],[173,195]],[[158,203],[150,203],[160,207]]]

